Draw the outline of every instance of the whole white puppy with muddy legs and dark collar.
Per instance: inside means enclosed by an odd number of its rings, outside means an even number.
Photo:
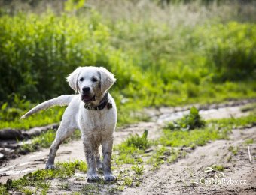
[[[108,89],[115,82],[114,75],[102,67],[79,67],[69,74],[67,81],[79,95],[61,95],[45,101],[29,110],[21,118],[56,105],[69,105],[50,147],[46,169],[54,168],[54,159],[59,145],[79,128],[88,165],[87,181],[99,179],[96,169],[103,169],[105,181],[115,181],[116,178],[111,173],[111,153],[113,133],[117,123],[117,109],[114,99],[108,93]],[[103,163],[99,156],[99,145],[102,145]]]

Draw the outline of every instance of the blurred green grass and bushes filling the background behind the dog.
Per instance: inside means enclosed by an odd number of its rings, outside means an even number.
[[[35,103],[74,93],[65,77],[83,65],[104,66],[117,77],[110,92],[118,125],[145,118],[137,114],[143,107],[255,98],[254,6],[201,3],[147,1],[143,12],[131,1],[59,14],[3,10],[0,129],[58,122],[59,108],[18,118]]]

